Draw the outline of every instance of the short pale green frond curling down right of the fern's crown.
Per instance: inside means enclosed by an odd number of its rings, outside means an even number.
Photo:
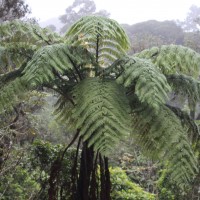
[[[131,87],[141,102],[159,110],[171,89],[165,76],[150,61],[137,57],[129,58],[123,67],[124,72],[117,82]]]

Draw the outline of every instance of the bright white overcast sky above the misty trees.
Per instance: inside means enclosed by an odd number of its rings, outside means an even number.
[[[40,22],[65,13],[74,0],[25,0],[32,16]],[[97,10],[105,9],[119,23],[134,24],[150,19],[184,20],[192,4],[200,7],[200,0],[95,0]]]

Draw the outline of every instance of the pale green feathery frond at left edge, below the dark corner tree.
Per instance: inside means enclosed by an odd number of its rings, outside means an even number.
[[[30,60],[34,52],[47,44],[57,43],[61,37],[37,24],[13,20],[0,26],[0,66],[11,71]]]

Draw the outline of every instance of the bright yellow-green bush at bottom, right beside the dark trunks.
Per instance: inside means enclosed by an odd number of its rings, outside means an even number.
[[[153,200],[155,195],[145,192],[140,186],[131,182],[124,170],[119,167],[110,168],[112,192],[115,200]]]

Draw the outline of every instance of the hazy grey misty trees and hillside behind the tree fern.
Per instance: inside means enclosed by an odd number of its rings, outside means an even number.
[[[84,2],[84,3],[83,3]],[[64,15],[41,22],[42,27],[51,28],[61,34],[65,33],[71,24],[83,16],[100,15],[110,17],[105,10],[97,11],[95,1],[76,0],[66,8]],[[191,5],[184,21],[180,20],[148,20],[135,24],[121,24],[132,43],[132,52],[138,52],[153,46],[164,44],[189,45],[198,50],[196,34],[200,30],[200,8]],[[191,41],[193,39],[195,41]],[[198,43],[198,42],[197,42]]]

